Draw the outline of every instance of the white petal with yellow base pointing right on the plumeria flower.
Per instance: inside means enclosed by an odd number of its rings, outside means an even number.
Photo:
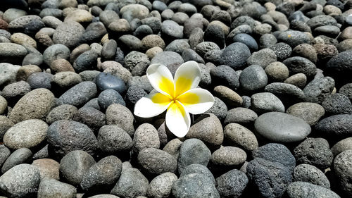
[[[208,90],[196,88],[191,89],[177,97],[184,107],[192,114],[204,113],[214,104],[214,97]]]

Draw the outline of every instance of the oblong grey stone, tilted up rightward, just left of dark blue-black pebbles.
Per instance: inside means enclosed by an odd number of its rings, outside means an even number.
[[[70,104],[79,107],[94,98],[97,92],[98,90],[94,82],[81,82],[71,89],[68,89],[68,91],[63,93],[58,99],[61,104]]]

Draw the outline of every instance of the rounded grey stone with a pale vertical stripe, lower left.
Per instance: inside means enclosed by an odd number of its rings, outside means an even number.
[[[87,152],[70,151],[60,161],[60,175],[71,185],[79,186],[84,175],[95,163],[94,158]]]

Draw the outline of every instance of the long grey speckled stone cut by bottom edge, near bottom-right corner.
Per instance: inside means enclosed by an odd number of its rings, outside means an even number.
[[[289,198],[340,198],[332,190],[308,182],[292,182],[287,187],[287,196]]]

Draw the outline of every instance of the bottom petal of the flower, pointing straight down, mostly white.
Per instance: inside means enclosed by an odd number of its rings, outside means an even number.
[[[191,126],[189,113],[180,102],[172,103],[166,111],[166,126],[177,137],[184,137]]]

